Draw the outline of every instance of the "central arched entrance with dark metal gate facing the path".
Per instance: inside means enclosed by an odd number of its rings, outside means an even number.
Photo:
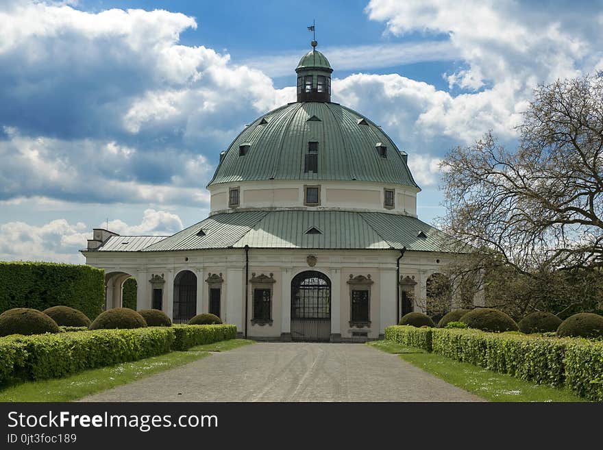
[[[324,273],[305,271],[291,281],[291,338],[329,341],[331,280]]]

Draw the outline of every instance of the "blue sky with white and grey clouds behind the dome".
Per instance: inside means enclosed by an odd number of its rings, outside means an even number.
[[[0,0],[0,260],[203,219],[219,152],[295,101],[313,18],[334,101],[408,152],[434,221],[448,149],[514,145],[534,86],[603,70],[603,2],[566,3]]]

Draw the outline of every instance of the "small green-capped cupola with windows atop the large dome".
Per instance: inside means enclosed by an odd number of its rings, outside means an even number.
[[[297,72],[297,101],[331,101],[331,73],[329,60],[316,49],[318,42],[312,40],[312,50],[299,60]]]

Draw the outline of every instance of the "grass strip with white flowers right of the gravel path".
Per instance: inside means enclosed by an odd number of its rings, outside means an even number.
[[[369,342],[371,347],[400,353],[399,358],[488,401],[586,401],[567,388],[551,388],[458,362],[436,353],[412,349],[392,341]]]

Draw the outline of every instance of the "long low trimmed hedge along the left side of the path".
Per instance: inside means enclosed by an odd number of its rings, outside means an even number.
[[[47,379],[170,351],[171,328],[99,329],[0,339],[0,384]]]

